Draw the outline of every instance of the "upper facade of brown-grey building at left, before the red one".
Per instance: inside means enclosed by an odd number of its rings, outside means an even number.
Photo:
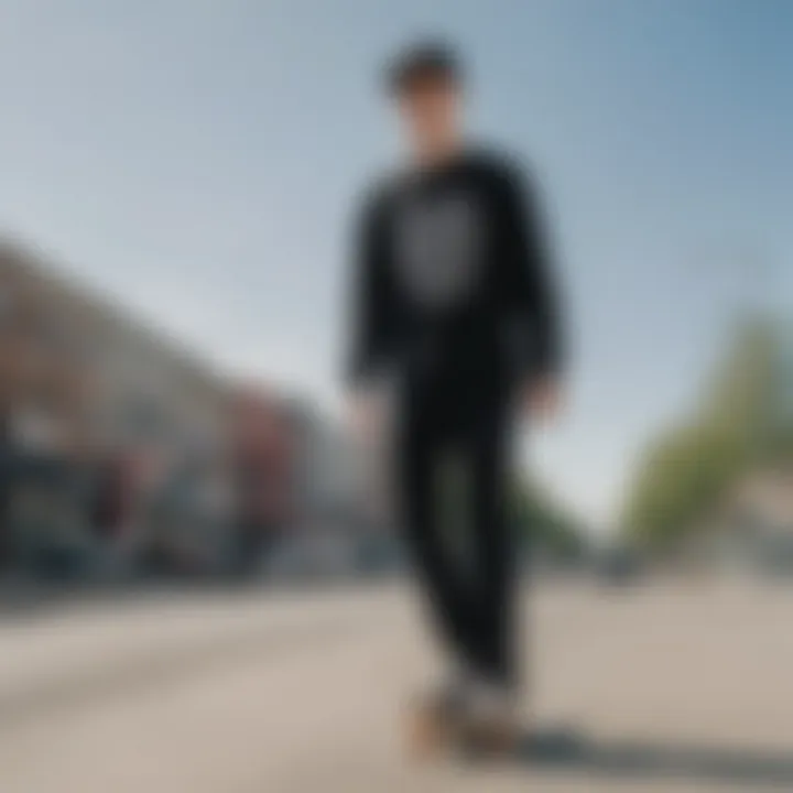
[[[208,445],[222,433],[226,398],[220,379],[163,334],[34,253],[0,246],[0,404],[12,421],[37,415],[74,450]]]

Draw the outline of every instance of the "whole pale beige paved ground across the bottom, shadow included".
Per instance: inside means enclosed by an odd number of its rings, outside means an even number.
[[[793,589],[540,589],[540,740],[406,763],[432,653],[399,588],[193,596],[0,627],[2,793],[793,790]]]

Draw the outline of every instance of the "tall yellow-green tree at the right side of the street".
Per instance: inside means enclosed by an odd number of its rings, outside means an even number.
[[[686,536],[743,472],[793,452],[778,410],[782,345],[772,323],[739,328],[692,416],[652,442],[638,466],[622,528],[643,544]]]

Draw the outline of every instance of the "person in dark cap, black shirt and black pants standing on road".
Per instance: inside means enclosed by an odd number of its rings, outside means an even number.
[[[510,439],[521,413],[550,419],[560,403],[552,256],[528,172],[467,140],[457,54],[417,43],[387,72],[410,156],[376,183],[359,213],[351,420],[372,433],[383,405],[394,408],[400,523],[449,654],[448,680],[412,711],[413,748],[463,737],[504,748],[518,737],[520,686]],[[457,492],[470,569],[439,515],[439,471],[449,459],[467,476]]]

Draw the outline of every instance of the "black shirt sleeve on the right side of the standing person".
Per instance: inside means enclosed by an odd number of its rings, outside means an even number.
[[[510,174],[501,211],[511,363],[524,379],[558,374],[563,339],[555,262],[533,185]]]

